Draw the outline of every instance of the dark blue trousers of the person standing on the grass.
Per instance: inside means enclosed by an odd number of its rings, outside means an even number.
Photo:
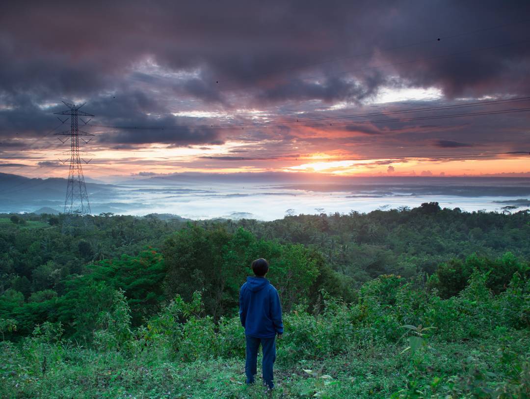
[[[272,377],[272,366],[276,360],[276,337],[258,338],[246,335],[246,383],[252,384],[254,382],[254,376],[258,372],[257,363],[260,343],[263,350],[263,361],[261,363],[261,368],[263,370],[263,381],[270,388],[273,388],[274,382]]]

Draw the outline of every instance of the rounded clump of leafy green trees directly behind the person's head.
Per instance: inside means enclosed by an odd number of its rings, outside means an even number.
[[[189,300],[194,291],[201,291],[205,309],[215,319],[238,305],[238,291],[253,274],[249,266],[258,257],[273,265],[267,278],[286,310],[307,297],[323,268],[319,255],[301,245],[257,240],[248,231],[229,233],[220,225],[208,230],[189,225],[166,241],[163,253],[167,295],[178,293]]]

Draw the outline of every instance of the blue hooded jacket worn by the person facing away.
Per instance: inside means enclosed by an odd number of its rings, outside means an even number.
[[[272,338],[284,333],[278,291],[265,277],[246,277],[239,293],[239,317],[246,335]]]

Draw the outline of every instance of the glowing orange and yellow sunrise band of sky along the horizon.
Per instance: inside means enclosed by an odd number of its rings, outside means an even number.
[[[259,144],[257,146],[259,147]],[[208,146],[172,147],[157,144],[137,150],[94,149],[92,151],[95,157],[89,164],[83,164],[83,170],[86,176],[96,179],[109,176],[129,177],[139,172],[160,175],[185,172],[211,174],[286,172],[334,176],[481,176],[530,172],[527,155],[462,160],[432,160],[429,158],[394,160],[385,157],[355,159],[364,157],[362,154],[348,152],[345,149],[335,149],[307,152],[301,154],[298,159],[220,160],[215,158],[237,157],[239,153],[255,151],[248,143],[237,141]],[[53,155],[50,156],[39,150],[34,150],[29,154],[31,155],[29,159],[12,159],[13,163],[24,164],[24,167],[4,167],[2,171],[28,177],[67,176],[67,166],[60,164],[56,158],[53,158]],[[243,155],[242,158],[245,156]],[[249,155],[249,158],[252,158],[252,155]],[[43,161],[55,162],[55,164],[49,167],[39,166],[39,163]]]

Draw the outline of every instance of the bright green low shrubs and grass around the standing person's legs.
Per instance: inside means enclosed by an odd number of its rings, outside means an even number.
[[[275,397],[528,397],[530,283],[516,274],[492,296],[474,273],[457,297],[381,276],[357,303],[324,294],[318,313],[298,305],[278,344]],[[238,317],[204,313],[180,296],[131,329],[123,291],[84,347],[46,322],[21,344],[2,342],[3,397],[261,397],[243,385]]]

